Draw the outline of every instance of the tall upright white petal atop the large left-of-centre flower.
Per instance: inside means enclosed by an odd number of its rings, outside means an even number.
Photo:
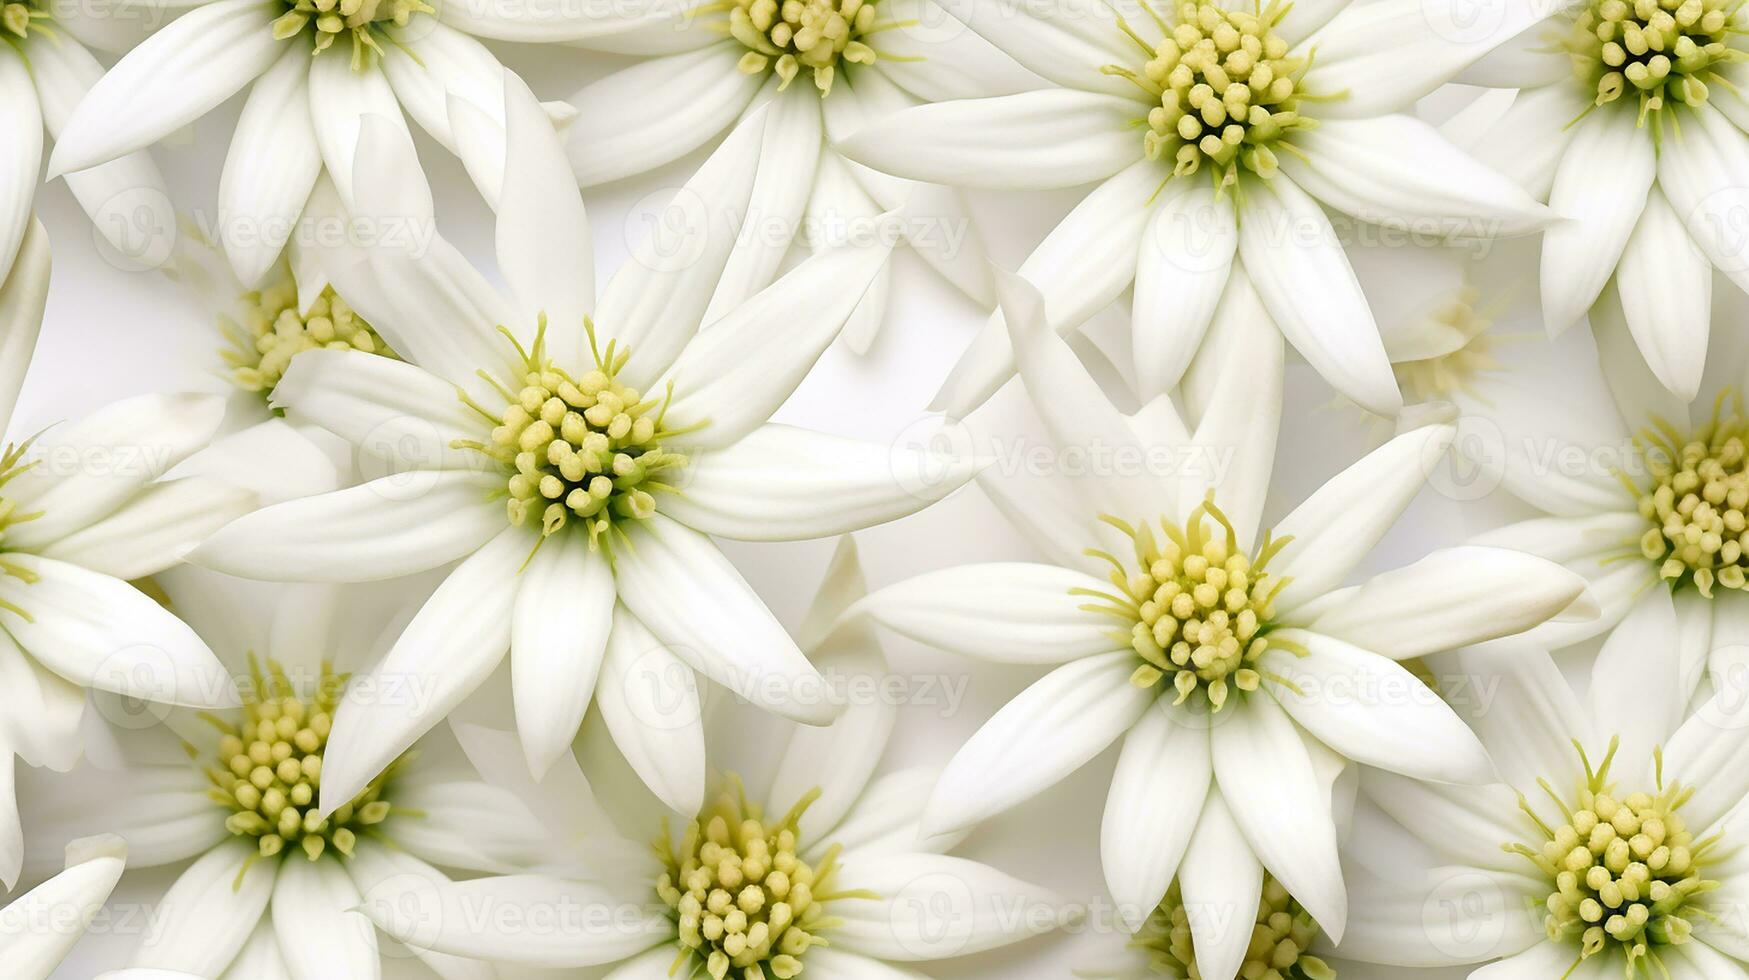
[[[547,317],[547,348],[579,374],[591,368],[582,320],[595,310],[595,250],[577,178],[533,93],[504,74],[505,164],[498,196],[498,273],[523,320]]]

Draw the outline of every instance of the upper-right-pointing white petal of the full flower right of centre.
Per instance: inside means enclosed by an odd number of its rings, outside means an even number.
[[[1293,537],[1272,569],[1293,579],[1277,604],[1284,614],[1343,584],[1420,492],[1453,436],[1450,425],[1404,432],[1333,476],[1275,525],[1279,537]]]

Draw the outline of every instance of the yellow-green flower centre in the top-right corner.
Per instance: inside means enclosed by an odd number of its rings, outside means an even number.
[[[1670,103],[1705,103],[1702,79],[1721,61],[1744,58],[1728,46],[1733,9],[1732,0],[1590,0],[1574,18],[1567,51],[1597,105],[1637,94],[1644,122]]]

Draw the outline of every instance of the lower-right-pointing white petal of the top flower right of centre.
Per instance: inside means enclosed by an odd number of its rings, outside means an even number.
[[[1252,182],[1238,254],[1287,343],[1326,382],[1375,415],[1403,408],[1366,296],[1317,201],[1284,175]]]

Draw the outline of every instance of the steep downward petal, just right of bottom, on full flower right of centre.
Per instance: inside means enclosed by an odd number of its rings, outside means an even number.
[[[1268,696],[1247,698],[1210,733],[1214,775],[1251,850],[1333,942],[1348,920],[1336,861],[1336,822],[1312,758],[1287,712]]]

